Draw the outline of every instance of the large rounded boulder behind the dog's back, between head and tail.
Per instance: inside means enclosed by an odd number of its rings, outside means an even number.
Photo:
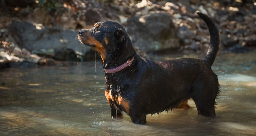
[[[133,46],[145,52],[167,48],[179,48],[177,30],[171,16],[166,13],[153,13],[131,17],[124,24]]]

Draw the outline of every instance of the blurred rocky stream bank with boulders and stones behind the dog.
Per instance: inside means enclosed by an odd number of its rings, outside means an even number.
[[[254,0],[1,0],[0,10],[0,68],[93,60],[77,31],[100,21],[122,24],[143,57],[205,53],[210,36],[196,12],[220,29],[220,53],[256,47]]]

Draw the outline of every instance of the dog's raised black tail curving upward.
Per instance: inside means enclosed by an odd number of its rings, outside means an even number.
[[[219,35],[219,30],[216,28],[214,22],[206,15],[197,12],[199,17],[203,19],[203,21],[206,23],[210,35],[211,35],[211,44],[209,46],[208,52],[204,58],[204,60],[212,66],[215,57],[219,51],[219,45],[220,45],[220,35]]]

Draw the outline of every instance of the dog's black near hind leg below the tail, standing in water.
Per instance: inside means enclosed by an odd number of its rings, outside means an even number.
[[[215,78],[211,78],[215,79]],[[216,78],[217,79],[217,78]],[[204,116],[215,116],[215,99],[219,92],[218,79],[207,81],[198,81],[192,88],[191,98],[196,104],[198,114]]]

